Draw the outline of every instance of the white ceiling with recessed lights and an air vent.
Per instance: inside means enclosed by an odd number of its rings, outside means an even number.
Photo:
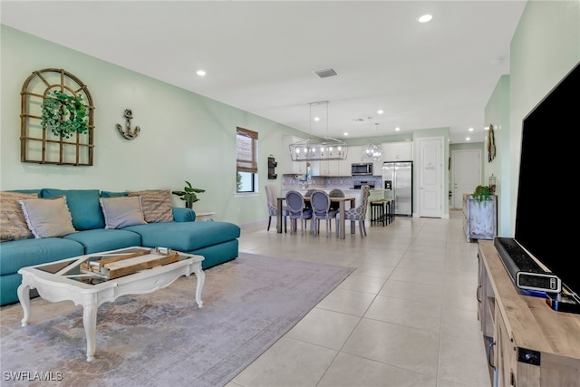
[[[485,106],[509,73],[509,44],[525,4],[3,0],[0,17],[314,136],[449,127],[449,140],[461,143],[484,140]],[[425,13],[433,19],[420,24]],[[328,68],[338,75],[314,73]]]

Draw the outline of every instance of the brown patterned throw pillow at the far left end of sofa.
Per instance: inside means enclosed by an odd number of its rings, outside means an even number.
[[[38,194],[0,192],[0,242],[33,237],[18,203],[24,198],[38,198]]]

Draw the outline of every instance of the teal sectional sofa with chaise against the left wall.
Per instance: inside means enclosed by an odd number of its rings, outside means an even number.
[[[70,218],[72,218],[74,232],[59,237],[33,235],[1,242],[0,305],[18,301],[17,288],[22,281],[22,276],[17,272],[24,266],[40,265],[72,256],[131,246],[169,247],[184,253],[204,256],[205,260],[202,265],[204,269],[235,259],[238,254],[237,238],[240,236],[240,227],[229,222],[196,221],[194,210],[170,207],[169,190],[108,192],[97,189],[28,189],[10,192],[33,194],[34,198],[37,196],[46,199],[64,199]],[[161,214],[161,219],[148,219],[146,198],[149,193],[164,198],[161,200],[162,203],[157,199],[157,201],[149,200],[148,202],[153,206],[150,206],[150,214],[152,214],[150,216]],[[112,228],[111,210],[108,209],[109,217],[107,217],[102,198],[127,197],[129,201],[131,196],[141,200],[144,218],[140,221],[125,222],[126,217],[121,217],[123,221],[116,226],[113,225],[114,228]],[[4,207],[2,217],[14,218],[14,213],[11,214],[9,211],[10,206],[6,205],[4,198],[2,200]],[[37,200],[34,202],[38,203]],[[131,202],[134,201],[131,200]],[[18,200],[18,204],[13,206],[13,212],[17,211],[20,206]],[[24,221],[28,222],[27,225],[30,228],[32,214],[26,213],[24,208],[23,212]],[[2,222],[3,225],[7,224],[6,219],[2,219]],[[130,225],[126,226],[123,222]],[[131,223],[137,224],[131,225]],[[40,227],[42,226],[41,224]]]

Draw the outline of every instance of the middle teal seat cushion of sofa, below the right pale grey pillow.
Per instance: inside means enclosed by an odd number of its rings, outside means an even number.
[[[117,248],[141,245],[141,237],[127,230],[95,228],[67,235],[64,239],[73,240],[84,247],[84,254],[100,253]]]

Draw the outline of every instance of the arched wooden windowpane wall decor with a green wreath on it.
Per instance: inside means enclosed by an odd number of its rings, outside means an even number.
[[[47,94],[63,92],[82,97],[88,107],[88,131],[72,136],[43,128],[43,102]],[[94,149],[94,105],[87,86],[63,69],[43,69],[32,73],[22,86],[20,114],[20,159],[36,164],[92,166]],[[64,118],[63,118],[64,119]]]

